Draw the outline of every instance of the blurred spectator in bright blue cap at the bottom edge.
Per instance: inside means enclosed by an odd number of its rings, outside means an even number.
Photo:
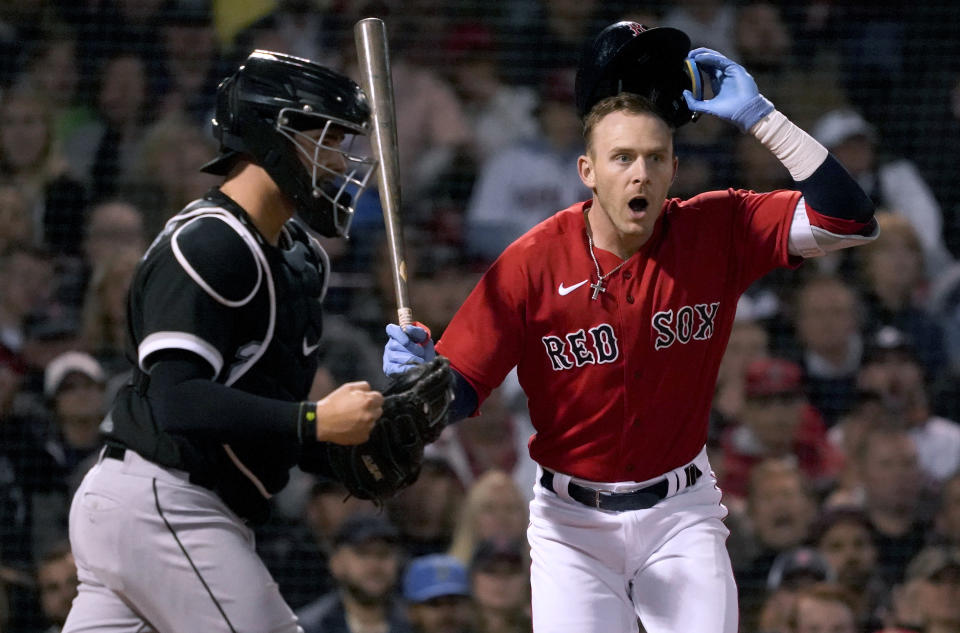
[[[444,554],[410,561],[403,598],[414,633],[472,633],[470,579],[459,560]]]

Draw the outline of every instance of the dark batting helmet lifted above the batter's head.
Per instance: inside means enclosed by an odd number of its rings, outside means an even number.
[[[603,29],[577,69],[577,114],[584,118],[598,101],[632,92],[647,97],[673,127],[694,119],[683,100],[689,89],[702,96],[700,73],[687,60],[690,38],[669,27],[617,22]]]

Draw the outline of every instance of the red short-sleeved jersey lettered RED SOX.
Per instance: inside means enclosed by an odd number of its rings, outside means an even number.
[[[514,367],[539,464],[592,481],[644,481],[707,439],[737,300],[799,263],[787,252],[800,193],[715,191],[664,203],[650,239],[596,281],[578,203],[493,263],[437,343],[482,402]],[[619,263],[596,249],[602,272]]]

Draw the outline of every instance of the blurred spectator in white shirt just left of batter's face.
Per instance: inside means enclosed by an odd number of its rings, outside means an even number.
[[[480,167],[467,208],[467,250],[493,261],[557,209],[590,197],[577,174],[582,153],[574,70],[551,73],[540,90],[540,138],[511,144]]]

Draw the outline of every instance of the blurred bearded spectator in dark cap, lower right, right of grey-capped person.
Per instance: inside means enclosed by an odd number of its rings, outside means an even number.
[[[862,510],[836,507],[824,510],[811,539],[826,559],[836,582],[850,594],[860,630],[882,625],[889,587],[877,567],[873,526]]]

